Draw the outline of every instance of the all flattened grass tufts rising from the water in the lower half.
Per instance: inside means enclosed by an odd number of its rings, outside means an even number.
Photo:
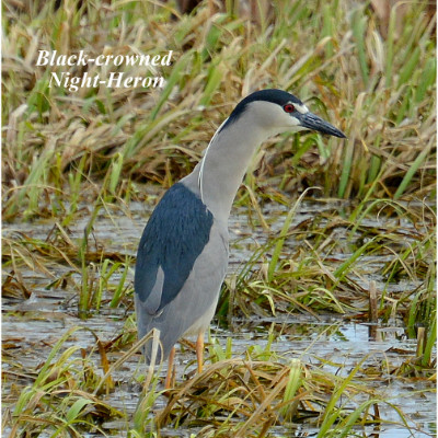
[[[339,208],[316,207],[320,210],[319,215],[313,215],[311,219],[304,221],[301,221],[300,217],[290,221],[285,215],[276,227],[267,219],[269,228],[278,231],[269,231],[272,235],[267,243],[256,247],[252,260],[237,269],[240,278],[228,283],[229,287],[223,290],[218,310],[218,316],[228,318],[230,326],[235,324],[233,323],[235,316],[251,321],[254,315],[281,316],[296,312],[313,315],[315,321],[320,313],[327,311],[347,314],[356,321],[368,321],[370,316],[367,299],[370,291],[365,288],[364,280],[368,276],[373,278],[379,276],[382,279],[377,284],[380,323],[396,324],[394,321],[403,320],[406,333],[418,342],[416,353],[411,351],[410,357],[401,364],[377,359],[374,360],[377,364],[371,367],[358,358],[355,364],[357,368],[351,371],[349,366],[336,361],[330,362],[330,358],[318,357],[314,353],[311,354],[310,360],[303,359],[304,356],[293,358],[295,354],[291,354],[292,358],[291,355],[281,357],[275,353],[274,346],[278,338],[285,335],[283,333],[285,328],[281,324],[270,325],[269,333],[266,333],[266,345],[255,344],[247,347],[243,357],[237,354],[231,337],[223,346],[210,339],[208,360],[210,365],[207,365],[203,374],[192,378],[189,372],[188,379],[183,379],[183,382],[176,385],[159,418],[152,406],[163,394],[159,381],[153,380],[150,390],[140,397],[140,407],[132,426],[131,414],[120,412],[119,407],[108,411],[107,405],[112,406],[112,403],[106,399],[106,392],[99,390],[105,372],[110,372],[108,377],[115,384],[114,388],[110,387],[111,391],[120,391],[126,385],[126,377],[120,378],[114,372],[126,360],[119,357],[118,351],[130,348],[136,336],[135,323],[129,318],[119,333],[103,346],[105,357],[107,356],[106,368],[97,365],[96,356],[99,355],[100,362],[104,357],[99,344],[92,347],[92,350],[87,349],[85,356],[79,347],[57,344],[43,368],[27,369],[24,381],[27,384],[28,381],[35,381],[28,390],[23,389],[20,396],[11,391],[5,400],[7,405],[11,406],[7,426],[16,430],[16,434],[25,430],[43,433],[56,428],[66,434],[81,436],[85,430],[108,434],[107,426],[103,427],[102,422],[115,422],[120,417],[123,430],[128,430],[132,437],[153,436],[152,434],[160,436],[160,430],[165,434],[164,430],[169,428],[192,427],[198,430],[196,434],[200,437],[230,434],[242,437],[269,436],[268,434],[276,428],[279,428],[280,436],[281,434],[287,436],[288,433],[285,433],[284,428],[290,431],[297,423],[316,430],[325,430],[324,434],[328,434],[326,436],[338,436],[348,430],[353,434],[358,427],[369,430],[370,426],[384,425],[384,419],[379,417],[379,406],[380,408],[387,406],[385,408],[393,410],[396,415],[400,414],[401,425],[408,423],[408,427],[414,427],[411,419],[405,419],[403,412],[392,406],[391,400],[379,392],[379,384],[376,388],[372,385],[364,388],[364,379],[368,379],[370,384],[384,381],[388,376],[404,381],[419,379],[427,382],[428,379],[434,379],[436,295],[433,280],[435,264],[433,254],[429,254],[434,249],[431,244],[434,235],[427,223],[418,227],[417,216],[422,216],[422,208],[419,205],[411,206],[407,215],[405,209],[391,209],[387,206],[384,210],[380,210],[381,221],[371,219],[376,215],[365,216],[353,234],[350,232],[353,223],[347,219],[350,216],[347,207],[342,215]],[[107,211],[114,215],[113,211]],[[387,215],[384,219],[383,214]],[[87,214],[84,218],[87,220],[83,223],[87,226],[89,223]],[[110,220],[117,222],[116,216],[110,216]],[[285,221],[288,223],[287,228],[284,227]],[[403,227],[400,223],[403,223]],[[417,227],[413,227],[413,223]],[[76,234],[77,238],[71,234]],[[14,268],[11,269],[8,287],[3,288],[3,293],[7,292],[7,296],[15,302],[24,300],[22,291],[31,290],[32,293],[32,285],[15,274],[32,266],[36,272],[49,277],[46,281],[49,288],[67,287],[70,292],[77,288],[79,296],[83,277],[74,275],[81,272],[81,262],[78,257],[78,247],[83,239],[81,235],[74,230],[56,228],[49,232],[46,240],[25,235],[21,235],[21,240],[7,238],[4,240],[4,244],[8,244],[7,251],[3,251],[3,254],[9,262],[5,267],[14,266]],[[380,241],[374,243],[377,235],[380,237]],[[408,235],[407,241],[406,235]],[[268,280],[266,260],[270,258],[269,252],[277,249],[276,243],[279,240],[283,240],[281,249],[273,277]],[[376,247],[371,244],[366,245],[364,240],[372,242]],[[415,242],[428,240],[430,240],[429,246],[415,247]],[[239,245],[239,242],[235,244]],[[356,249],[364,246],[366,249],[361,256],[345,266],[345,258],[350,260]],[[101,250],[92,251],[92,247]],[[114,302],[118,309],[129,311],[131,284],[128,278],[131,276],[126,274],[129,266],[128,258],[125,262],[122,253],[112,253],[108,249],[106,251],[104,249],[104,242],[100,241],[97,235],[93,235],[88,257],[96,263],[96,269],[93,274],[94,280],[89,281],[90,297],[99,296],[100,302],[97,304],[93,301],[90,310],[101,312],[103,308],[110,308]],[[404,254],[404,249],[410,249],[410,252],[401,262],[399,257]],[[379,258],[385,262],[380,263]],[[57,273],[54,266],[64,266],[65,269],[61,270],[64,274],[54,277],[54,273]],[[391,288],[391,285],[403,280],[406,283],[402,290]],[[120,289],[124,292],[118,299],[117,290]],[[74,297],[69,304],[73,311],[77,300],[79,301],[79,298]],[[26,308],[23,308],[23,312],[25,315]],[[84,324],[87,325],[87,322]],[[419,325],[422,330],[418,330]],[[68,332],[67,337],[62,337],[64,344],[72,334]],[[323,338],[324,334],[320,336]],[[311,345],[309,351],[312,351]],[[13,350],[11,353],[11,358],[14,358]],[[308,353],[302,351],[302,354]],[[78,355],[81,356],[78,358]],[[8,376],[13,376],[15,372],[19,376],[21,371],[15,365],[18,359],[10,360],[9,356],[4,358],[14,370]],[[53,385],[45,385],[45,376],[48,372],[46,364],[50,364],[48,366],[50,369],[62,371],[59,381]],[[80,384],[74,384],[81,378],[78,374],[80,364],[83,366],[82,372],[87,373],[87,379]],[[89,371],[88,367],[91,368]],[[337,371],[334,373],[330,370],[331,367],[335,367]],[[145,372],[142,366],[138,372]],[[39,377],[41,373],[43,377]],[[128,380],[137,384],[137,380],[141,380],[141,377],[138,373],[137,376],[129,373]],[[16,384],[20,388],[23,382]],[[70,387],[67,387],[68,384]],[[36,404],[37,401],[41,404]],[[44,407],[46,401],[47,406],[55,408],[56,418],[50,419],[48,407],[47,410]],[[23,406],[18,407],[20,412],[15,411],[16,405]],[[34,405],[37,406],[38,414],[34,414],[33,420],[30,420],[27,411]],[[72,418],[74,420],[71,422]]]

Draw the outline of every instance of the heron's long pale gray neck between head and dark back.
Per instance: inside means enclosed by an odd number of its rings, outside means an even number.
[[[251,159],[262,143],[276,130],[254,126],[245,115],[218,129],[203,160],[185,180],[200,195],[214,216],[228,221],[232,203]]]

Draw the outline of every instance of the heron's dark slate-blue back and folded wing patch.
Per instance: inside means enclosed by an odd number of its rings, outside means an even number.
[[[209,240],[212,220],[200,198],[182,183],[155,207],[140,240],[134,280],[149,314],[177,296]]]

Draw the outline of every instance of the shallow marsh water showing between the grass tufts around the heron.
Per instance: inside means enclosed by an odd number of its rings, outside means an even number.
[[[298,226],[311,219],[315,212],[324,209],[343,209],[346,204],[338,201],[304,201],[298,208],[291,227]],[[270,210],[269,210],[270,208]],[[83,229],[89,220],[87,206],[82,206],[82,220],[69,226],[69,238],[74,241],[83,235]],[[141,235],[146,218],[150,214],[149,206],[132,203],[124,208],[107,211],[103,209],[93,227],[90,241],[96,246],[104,246],[107,253],[119,253],[135,256],[136,246]],[[277,207],[273,210],[267,207],[263,210],[265,217],[269,217],[272,232],[281,229],[287,209]],[[384,227],[385,218],[367,218],[370,227]],[[255,220],[256,221],[256,220]],[[26,235],[34,240],[47,240],[50,230],[54,229],[56,220],[38,220],[25,223],[11,223],[3,226],[3,235],[13,240]],[[410,229],[410,223],[402,223],[402,227]],[[412,230],[415,232],[415,230]],[[337,239],[347,243],[346,229],[338,229]],[[254,250],[266,243],[268,233],[262,227],[251,226],[246,210],[235,208],[230,221],[231,254],[229,277],[237,275]],[[406,240],[408,240],[406,233]],[[292,239],[287,241],[287,247],[293,251],[296,243]],[[348,253],[345,251],[337,255],[332,254],[333,263],[341,263]],[[385,262],[387,256],[365,256],[362,260],[361,275],[356,279],[367,286],[373,280],[378,289],[384,287],[396,290],[413,290],[419,286],[414,280],[397,283],[390,286],[383,285],[382,278],[376,275],[373,267]],[[33,372],[45,362],[53,346],[59,341],[70,327],[81,326],[87,330],[74,332],[65,343],[64,348],[80,346],[90,351],[95,345],[95,335],[102,342],[108,342],[119,336],[126,330],[126,319],[132,313],[131,307],[119,307],[112,309],[107,304],[111,297],[104,291],[101,309],[87,320],[77,316],[78,290],[69,287],[54,286],[54,278],[64,275],[71,276],[79,281],[80,274],[72,272],[71,266],[56,264],[51,266],[47,262],[45,266],[48,273],[41,269],[32,269],[31,266],[21,272],[22,280],[31,290],[30,297],[5,297],[3,298],[2,342],[3,355],[3,399],[8,404],[8,392],[13,385],[25,385],[32,383]],[[134,264],[132,264],[134,268]],[[128,273],[128,281],[134,278],[134,270]],[[117,273],[113,283],[117,283],[120,274]],[[368,275],[368,277],[367,277]],[[391,365],[402,364],[408,358],[415,357],[416,341],[406,336],[403,321],[394,318],[387,324],[370,324],[364,321],[351,320],[348,314],[327,313],[318,314],[318,318],[306,313],[276,315],[261,315],[254,313],[250,320],[234,319],[231,327],[222,328],[215,320],[210,331],[210,342],[218,342],[226,345],[229,337],[232,338],[232,353],[235,358],[245,358],[245,351],[254,345],[264,346],[267,343],[268,333],[274,332],[274,343],[270,346],[279,360],[300,358],[308,366],[324,364],[323,369],[332,372],[348,373],[360,360],[364,366],[372,367],[378,364],[388,362]],[[116,360],[123,351],[111,356]],[[3,356],[4,358],[4,356]],[[95,353],[95,361],[99,361]],[[21,372],[16,369],[21,367]],[[187,379],[193,376],[196,366],[194,354],[189,348],[184,348],[176,359],[177,379]],[[131,418],[140,393],[140,384],[136,377],[145,372],[140,355],[134,355],[123,366],[114,371],[113,378],[118,382],[115,391],[108,394],[105,401],[116,410],[127,413]],[[11,374],[9,374],[11,373]],[[164,369],[161,371],[164,374]],[[390,372],[382,372],[373,382],[368,379],[364,382],[367,385],[374,385],[380,391],[382,400],[392,403],[400,408],[408,419],[411,430],[403,426],[396,411],[390,404],[382,403],[380,416],[385,420],[379,430],[369,428],[369,436],[381,438],[404,438],[404,437],[429,437],[436,436],[436,396],[434,392],[435,382],[427,379],[404,379],[396,378]],[[360,403],[360,394],[355,397]],[[364,399],[365,401],[365,399]],[[164,397],[157,401],[155,411],[165,404]],[[4,404],[3,404],[4,406]],[[392,423],[392,424],[391,424]],[[126,419],[107,422],[102,426],[110,436],[126,436]],[[9,436],[8,427],[3,436]],[[318,429],[308,427],[306,423],[293,425],[293,428],[272,429],[279,437],[283,436],[315,436]],[[361,429],[362,430],[362,429]],[[196,434],[193,429],[162,430],[161,435],[169,437],[189,437]],[[43,436],[43,435],[41,435]],[[90,435],[91,436],[91,435]],[[362,435],[359,435],[362,436]]]

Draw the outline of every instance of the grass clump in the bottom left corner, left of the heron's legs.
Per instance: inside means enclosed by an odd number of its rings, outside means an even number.
[[[90,427],[104,434],[95,418],[122,415],[92,394],[99,379],[88,355],[83,351],[78,357],[79,346],[66,348],[66,341],[78,330],[73,327],[59,338],[32,385],[21,391],[10,415],[9,437],[43,431],[81,437]]]

